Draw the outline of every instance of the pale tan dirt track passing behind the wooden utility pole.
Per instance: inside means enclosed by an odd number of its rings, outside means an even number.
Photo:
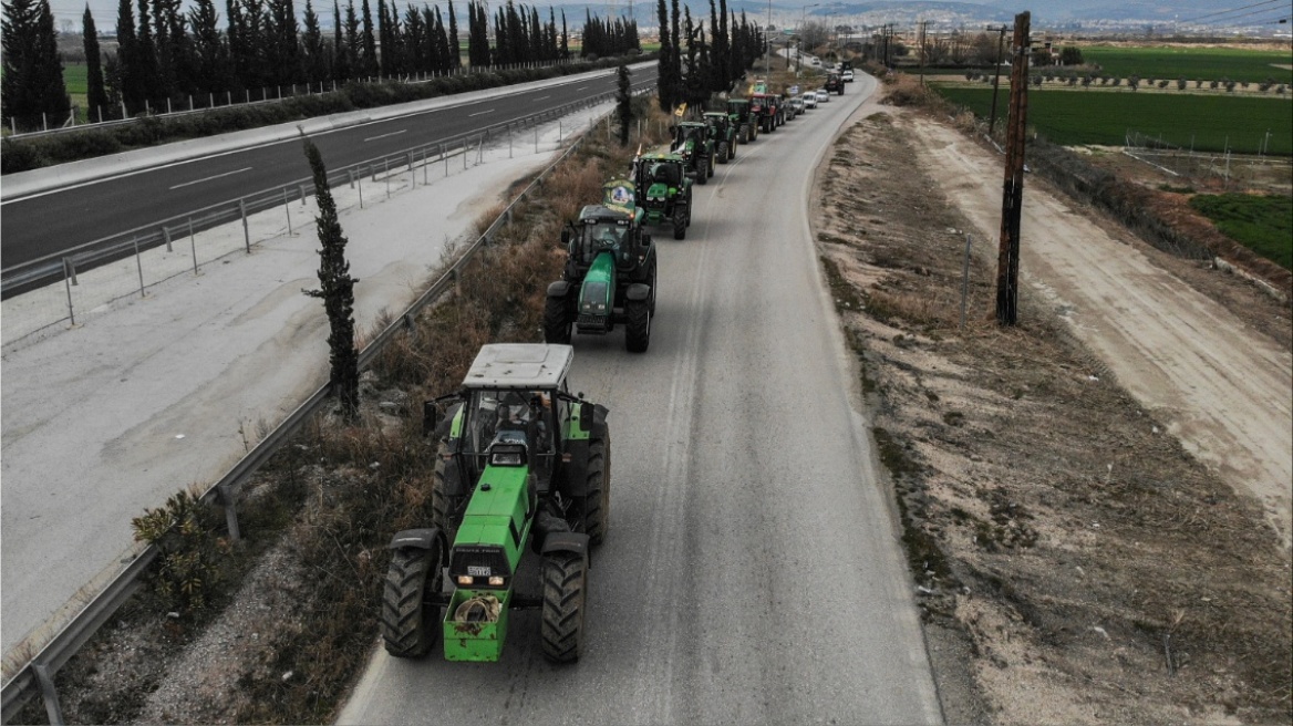
[[[921,160],[996,244],[1001,161],[913,119]],[[996,172],[996,173],[994,173]],[[1257,497],[1285,548],[1293,518],[1293,358],[1028,177],[1021,282],[1047,300],[1118,382],[1186,448]],[[1076,212],[1076,213],[1074,213]]]

